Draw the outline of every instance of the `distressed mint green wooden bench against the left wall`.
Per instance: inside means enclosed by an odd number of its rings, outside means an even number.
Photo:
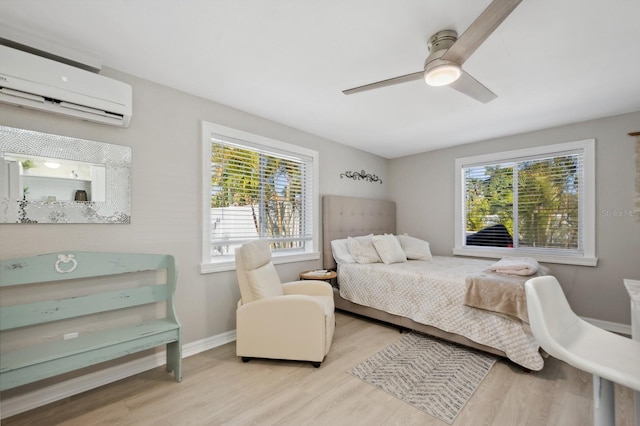
[[[167,371],[173,371],[175,379],[182,381],[181,328],[174,303],[177,271],[173,256],[63,252],[2,260],[0,290],[9,286],[37,284],[34,291],[38,291],[37,288],[41,288],[38,286],[42,284],[65,280],[82,280],[76,281],[81,285],[86,281],[87,287],[90,287],[90,278],[109,276],[109,283],[122,282],[127,277],[135,281],[133,275],[124,274],[143,271],[159,271],[149,274],[154,274],[156,282],[158,277],[166,277],[166,281],[148,285],[148,280],[142,280],[140,285],[130,288],[26,304],[7,306],[7,301],[3,301],[0,306],[0,331],[15,330],[13,333],[16,333],[22,329],[25,335],[30,327],[37,325],[159,302],[166,302],[166,316],[115,329],[80,332],[78,337],[68,340],[60,336],[55,341],[39,342],[25,349],[0,353],[0,390],[161,345],[166,345]],[[101,285],[106,285],[104,278],[101,278]],[[125,311],[122,312],[125,315]],[[91,318],[86,317],[86,321],[91,321]]]

